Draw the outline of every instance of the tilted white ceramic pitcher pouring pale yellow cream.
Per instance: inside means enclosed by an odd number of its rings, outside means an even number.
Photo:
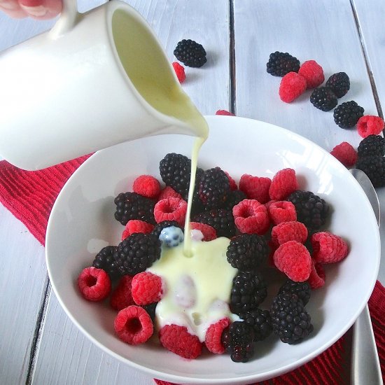
[[[0,55],[0,155],[22,169],[206,127],[158,38],[118,0],[81,14],[64,0],[50,31]]]

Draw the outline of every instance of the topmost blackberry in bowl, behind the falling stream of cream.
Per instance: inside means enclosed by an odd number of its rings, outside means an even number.
[[[165,158],[160,161],[159,171],[162,181],[166,186],[174,188],[181,194],[184,200],[188,197],[188,188],[190,186],[191,176],[191,160],[185,155],[168,153]],[[195,186],[198,185],[203,170],[197,167],[195,176]]]

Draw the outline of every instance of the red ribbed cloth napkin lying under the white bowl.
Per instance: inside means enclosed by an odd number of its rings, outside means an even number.
[[[26,225],[34,237],[44,244],[48,216],[59,191],[69,176],[88,158],[76,160],[36,172],[27,172],[0,162],[0,202]],[[382,377],[385,374],[385,288],[377,281],[369,300],[370,315],[376,337]],[[350,332],[309,363],[260,385],[332,385],[349,384]],[[277,358],[279,359],[279,358]],[[243,364],[239,364],[243,365]],[[384,379],[385,381],[385,379]],[[159,385],[168,382],[155,379]]]

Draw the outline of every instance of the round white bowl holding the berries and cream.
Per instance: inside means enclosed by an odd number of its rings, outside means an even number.
[[[120,241],[123,226],[113,218],[113,198],[132,188],[141,174],[159,176],[159,162],[171,152],[191,155],[193,138],[163,135],[99,151],[71,176],[48,222],[46,260],[57,298],[69,318],[94,344],[147,374],[183,384],[250,384],[295,369],[322,353],[362,311],[379,269],[379,231],[370,203],[353,176],[311,141],[288,130],[245,118],[209,116],[210,135],[199,165],[219,166],[237,181],[241,174],[272,177],[295,169],[302,190],[332,206],[328,230],[349,241],[348,257],[326,269],[326,283],[314,290],[307,311],[314,332],[297,345],[274,336],[256,345],[255,358],[234,363],[230,356],[203,354],[186,360],[154,342],[130,346],[114,334],[116,311],[80,296],[77,278],[107,244]],[[311,127],[309,127],[311,130]],[[276,287],[269,288],[269,297]],[[267,300],[268,301],[268,300]],[[262,304],[263,305],[263,304]],[[263,307],[263,306],[262,306]]]

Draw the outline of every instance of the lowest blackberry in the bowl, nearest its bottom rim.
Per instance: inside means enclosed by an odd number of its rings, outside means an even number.
[[[253,328],[247,323],[235,321],[223,330],[221,342],[234,362],[246,363],[254,353],[253,339]]]

